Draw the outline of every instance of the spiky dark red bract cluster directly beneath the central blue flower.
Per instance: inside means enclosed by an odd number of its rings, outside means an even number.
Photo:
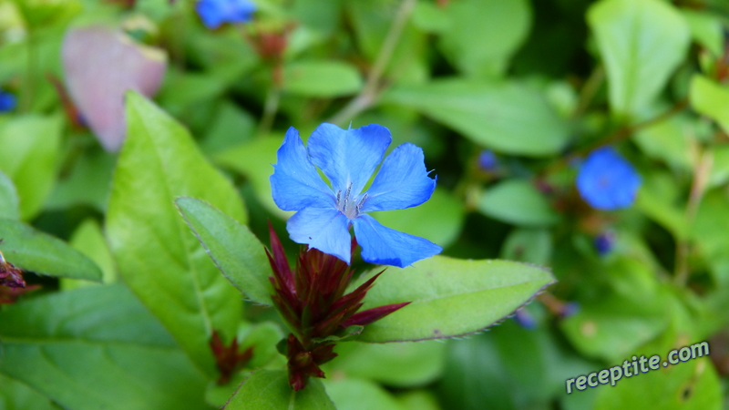
[[[382,273],[344,294],[352,280],[349,266],[316,249],[301,251],[292,271],[281,241],[269,224],[271,251],[266,250],[273,276],[272,300],[293,333],[286,341],[289,384],[303,389],[306,377],[324,377],[321,364],[334,359],[334,341],[346,336],[349,326],[364,326],[382,319],[409,302],[388,304],[357,313],[364,295]],[[352,250],[356,241],[352,241]],[[384,272],[384,271],[383,271]],[[358,331],[353,331],[358,333]]]

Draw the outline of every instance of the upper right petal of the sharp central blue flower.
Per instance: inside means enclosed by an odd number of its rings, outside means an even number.
[[[363,212],[403,210],[430,199],[436,179],[427,176],[423,149],[405,143],[387,156],[367,190]]]

